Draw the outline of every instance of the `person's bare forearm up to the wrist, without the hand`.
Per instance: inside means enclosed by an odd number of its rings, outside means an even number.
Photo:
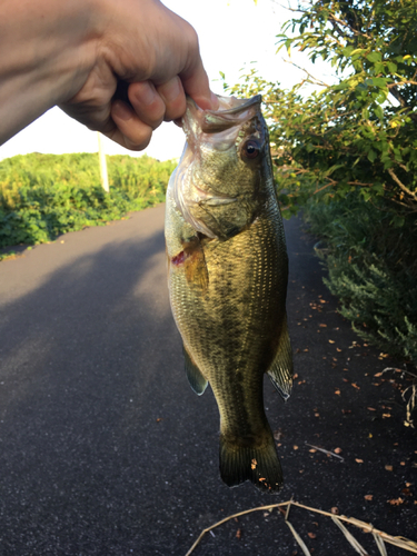
[[[0,145],[82,87],[97,19],[90,0],[0,2]]]

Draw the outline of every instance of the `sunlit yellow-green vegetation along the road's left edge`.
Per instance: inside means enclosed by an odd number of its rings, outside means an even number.
[[[98,155],[17,156],[0,161],[0,248],[51,241],[165,200],[173,161],[109,156],[110,192]]]

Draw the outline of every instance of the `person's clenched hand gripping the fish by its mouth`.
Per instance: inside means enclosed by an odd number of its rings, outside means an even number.
[[[101,0],[99,46],[78,92],[59,106],[90,129],[141,150],[162,122],[182,117],[186,93],[216,109],[192,27],[159,0]],[[120,80],[129,103],[115,99]]]

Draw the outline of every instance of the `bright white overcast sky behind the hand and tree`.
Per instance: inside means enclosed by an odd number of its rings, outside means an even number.
[[[238,82],[242,68],[252,64],[261,77],[290,88],[302,79],[302,72],[286,62],[282,49],[278,54],[276,36],[292,13],[274,0],[163,0],[172,11],[189,21],[199,36],[201,58],[210,79],[210,87],[224,95],[220,71],[229,85]],[[286,0],[282,0],[285,3]],[[289,4],[295,7],[296,1]],[[292,61],[306,67],[316,77],[324,78],[326,68],[309,64],[305,54],[291,54]],[[320,73],[321,72],[321,73]],[[162,123],[153,133],[146,150],[133,152],[103,138],[107,155],[145,152],[159,160],[179,158],[185,138],[173,123]],[[63,153],[96,152],[97,132],[69,118],[59,108],[52,108],[33,123],[0,147],[0,160],[28,152]]]

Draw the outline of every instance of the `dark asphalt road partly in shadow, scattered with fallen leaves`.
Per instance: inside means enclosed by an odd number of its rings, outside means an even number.
[[[336,312],[296,219],[286,230],[297,379],[286,404],[265,383],[285,486],[271,496],[221,483],[218,411],[183,373],[162,226],[160,206],[0,264],[0,555],[183,556],[202,528],[291,497],[417,540],[407,383],[379,375],[395,361]],[[330,519],[299,508],[289,519],[312,555],[355,554]],[[212,533],[196,556],[301,554],[277,509]]]

